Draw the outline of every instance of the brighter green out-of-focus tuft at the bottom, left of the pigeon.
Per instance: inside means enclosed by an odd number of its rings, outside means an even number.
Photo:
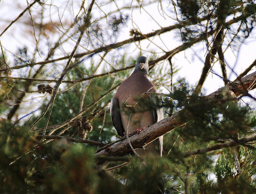
[[[100,180],[94,168],[93,155],[94,150],[85,149],[83,145],[71,146],[61,154],[54,174],[46,177],[51,187],[49,192],[97,193]]]

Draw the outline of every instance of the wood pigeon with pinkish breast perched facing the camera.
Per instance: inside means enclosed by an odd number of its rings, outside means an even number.
[[[116,91],[116,95],[111,99],[110,116],[119,136],[124,136],[130,116],[130,114],[125,113],[125,109],[127,109],[125,105],[134,105],[138,101],[138,98],[147,91],[157,92],[154,84],[148,79],[148,58],[140,56],[137,59],[133,73],[121,83]],[[144,95],[142,98],[153,104],[153,96]],[[144,111],[141,111],[141,108],[139,104],[134,107],[135,113],[131,115],[127,130],[128,134],[134,131],[139,133],[148,126],[164,119],[162,108],[147,108]],[[148,144],[145,149],[136,149],[136,152],[139,155],[159,154],[162,156],[162,150],[163,136]]]

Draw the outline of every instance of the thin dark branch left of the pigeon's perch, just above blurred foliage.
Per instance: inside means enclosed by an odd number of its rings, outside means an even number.
[[[60,140],[60,139],[67,139],[68,141],[75,142],[75,143],[86,143],[90,145],[95,145],[95,146],[106,146],[105,143],[99,142],[99,141],[92,141],[92,140],[85,140],[85,139],[75,139],[71,137],[63,137],[59,135],[32,135],[32,137],[35,137],[36,139],[47,139],[47,140]]]

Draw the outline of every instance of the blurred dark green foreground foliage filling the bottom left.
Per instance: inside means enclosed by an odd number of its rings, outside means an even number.
[[[95,149],[64,139],[44,144],[6,122],[0,130],[1,193],[154,193],[168,169],[161,158],[133,158],[113,172],[117,180],[129,180],[126,188],[95,163]]]

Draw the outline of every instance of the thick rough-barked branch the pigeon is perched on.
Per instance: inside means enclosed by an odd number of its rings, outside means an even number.
[[[240,81],[235,83],[229,83],[228,85],[206,96],[205,99],[209,102],[213,100],[216,103],[216,101],[222,101],[225,94],[234,94],[236,97],[244,95],[244,93],[248,93],[247,89],[253,83],[255,78],[256,72],[242,78],[242,83]],[[256,86],[252,87],[251,89],[254,89],[255,87]],[[186,120],[184,120],[184,115],[188,114],[189,112],[186,109],[183,109],[172,114],[170,117],[167,117],[159,121],[158,123],[149,126],[146,130],[141,131],[140,134],[131,136],[129,139],[132,147],[135,149],[143,148],[160,136],[169,133],[175,127],[184,125],[187,122]],[[107,147],[107,149],[98,152],[96,155],[124,155],[130,153],[131,151],[132,150],[129,146],[128,140],[125,139]]]

